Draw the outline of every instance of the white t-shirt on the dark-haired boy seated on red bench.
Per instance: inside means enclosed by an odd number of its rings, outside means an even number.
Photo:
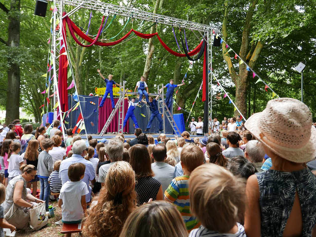
[[[61,187],[59,198],[63,200],[62,219],[63,221],[79,221],[83,217],[81,197],[88,194],[87,185],[82,181],[67,181]]]

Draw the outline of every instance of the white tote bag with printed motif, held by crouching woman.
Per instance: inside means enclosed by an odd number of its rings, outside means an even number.
[[[29,210],[30,212],[30,227],[33,230],[38,230],[47,225],[48,216],[46,215],[45,203],[39,203],[36,207]]]

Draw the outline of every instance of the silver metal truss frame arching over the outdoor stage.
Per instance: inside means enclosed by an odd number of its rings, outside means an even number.
[[[186,21],[186,20],[182,20],[182,19],[178,19],[178,18],[174,18],[174,17],[170,17],[170,16],[163,16],[163,15],[159,15],[159,14],[154,14],[151,12],[146,12],[146,11],[141,11],[138,10],[136,8],[128,8],[128,7],[124,7],[124,6],[119,6],[119,5],[114,5],[114,4],[110,4],[110,3],[104,3],[101,1],[97,1],[97,0],[53,0],[53,2],[55,3],[55,6],[58,7],[58,11],[54,11],[53,13],[53,26],[56,27],[56,19],[59,18],[59,22],[60,22],[60,34],[55,31],[54,29],[52,30],[52,61],[53,61],[53,73],[54,73],[54,91],[57,90],[57,99],[59,101],[59,93],[58,93],[58,87],[57,87],[57,81],[58,81],[58,75],[56,73],[56,67],[57,67],[57,61],[56,59],[58,58],[58,56],[56,57],[56,55],[59,55],[59,50],[56,46],[58,46],[58,44],[60,44],[59,42],[57,42],[57,35],[61,36],[63,34],[63,29],[62,29],[62,13],[64,10],[64,5],[69,5],[69,6],[74,6],[74,9],[72,9],[70,12],[68,12],[66,14],[66,16],[70,16],[73,13],[75,13],[76,11],[78,11],[79,9],[90,9],[90,10],[94,10],[94,11],[99,11],[102,14],[105,15],[109,15],[109,14],[115,14],[118,16],[125,16],[125,17],[133,17],[135,19],[141,19],[144,21],[149,21],[149,22],[156,22],[157,24],[164,24],[164,25],[169,25],[169,26],[177,26],[179,28],[185,28],[185,29],[189,29],[189,30],[196,30],[198,31],[202,36],[203,34],[201,32],[204,32],[205,36],[206,36],[206,40],[207,40],[207,50],[208,50],[208,78],[207,78],[207,82],[208,82],[208,98],[209,98],[209,111],[207,111],[207,113],[209,114],[209,118],[212,118],[212,36],[213,36],[213,30],[215,31],[221,31],[221,28],[218,28],[216,26],[213,25],[205,25],[205,24],[200,24],[197,22],[191,22],[191,21]],[[203,37],[204,38],[204,37]],[[205,39],[205,38],[204,38]],[[68,55],[67,55],[68,57]],[[71,61],[70,58],[68,57],[69,63],[70,63],[70,70],[72,71],[72,67],[71,67]],[[72,73],[72,77],[74,79],[73,73]],[[74,80],[75,81],[75,80]],[[76,85],[75,85],[76,86]],[[55,98],[55,97],[54,97]],[[80,104],[80,103],[79,103]],[[60,107],[60,105],[59,105]],[[61,110],[61,108],[59,108]],[[80,106],[80,110],[81,106]],[[205,113],[206,111],[204,111]],[[61,121],[63,123],[63,121]],[[208,121],[204,121],[204,122],[208,122]],[[209,126],[213,127],[213,123],[208,123]],[[63,126],[63,125],[62,125]],[[64,131],[63,131],[64,133]]]

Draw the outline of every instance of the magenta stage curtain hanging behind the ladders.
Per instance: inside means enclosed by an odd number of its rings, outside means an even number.
[[[101,99],[102,97],[99,97],[99,104],[101,102]],[[114,98],[114,103],[116,104],[118,100],[119,100],[118,98]],[[126,99],[124,99],[124,118],[127,113],[127,109],[128,109],[128,102]],[[99,133],[101,132],[111,112],[112,112],[111,99],[106,98],[103,107],[99,109],[99,123],[98,123]],[[119,110],[116,111],[116,114],[112,122],[110,123],[110,126],[107,128],[106,132],[117,132],[118,126],[119,126]],[[129,131],[130,131],[129,123],[127,122],[125,128],[123,129],[123,132],[129,132]]]

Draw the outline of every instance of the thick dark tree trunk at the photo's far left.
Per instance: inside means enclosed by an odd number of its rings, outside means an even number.
[[[10,4],[8,46],[11,48],[11,57],[8,58],[8,87],[5,122],[9,124],[19,119],[20,112],[20,65],[15,62],[20,47],[20,0],[12,0]]]

